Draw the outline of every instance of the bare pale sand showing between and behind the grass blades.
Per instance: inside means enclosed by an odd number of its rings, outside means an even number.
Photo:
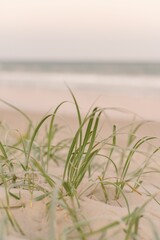
[[[57,106],[63,100],[71,100],[68,91],[50,91],[50,90],[31,90],[31,89],[0,89],[1,98],[9,101],[10,103],[16,105],[17,107],[23,109],[31,117],[33,122],[36,124],[39,119],[41,119],[48,110]],[[160,136],[160,112],[158,111],[159,98],[157,96],[140,96],[132,94],[128,96],[127,94],[105,94],[104,92],[96,93],[75,90],[75,95],[80,103],[82,113],[85,113],[89,106],[94,102],[97,96],[100,96],[96,101],[96,105],[108,108],[107,112],[107,128],[104,128],[105,119],[101,123],[102,130],[100,131],[100,138],[109,136],[112,131],[113,124],[117,125],[117,129],[129,125],[133,118],[136,118],[137,122],[150,120],[146,123],[138,132],[138,137],[141,136]],[[121,109],[120,111],[115,111],[112,108]],[[122,111],[123,109],[123,111]],[[125,111],[124,111],[125,109]],[[135,114],[134,114],[135,113]],[[10,109],[1,103],[0,107],[1,121],[9,126],[10,129],[19,129],[21,132],[25,132],[26,121],[19,113]],[[77,116],[75,115],[74,106],[72,103],[67,103],[66,107],[63,107],[62,111],[58,113],[56,121],[60,125],[64,125],[65,129],[60,134],[59,138],[64,136],[73,136],[77,128]],[[127,128],[126,128],[127,129]],[[127,130],[125,130],[127,131]],[[124,146],[125,135],[121,135],[118,138],[119,145]],[[159,139],[154,141],[155,146],[159,146]],[[148,146],[146,146],[147,148]],[[147,150],[146,150],[147,151]],[[116,157],[116,156],[115,156]],[[141,165],[141,157],[137,154],[134,157],[133,164],[131,164],[131,169],[134,170],[137,165]],[[159,153],[153,158],[149,164],[149,169],[156,168],[158,170],[159,166]],[[112,168],[107,175],[107,179],[110,180],[114,177],[112,174]],[[49,169],[51,176],[62,177],[63,166],[51,165]],[[125,239],[125,229],[126,225],[122,222],[122,218],[128,214],[127,204],[123,195],[120,196],[118,200],[114,198],[115,188],[113,185],[108,185],[108,202],[106,203],[105,197],[98,183],[98,176],[100,171],[97,170],[92,176],[92,179],[88,181],[85,176],[81,185],[78,188],[77,195],[79,197],[80,208],[77,203],[70,201],[69,197],[66,197],[71,208],[75,207],[78,212],[78,217],[82,221],[87,219],[90,221],[90,229],[96,231],[100,228],[105,227],[107,224],[113,221],[119,221],[117,227],[108,232],[107,238],[104,239],[115,239],[122,240]],[[160,236],[160,175],[159,173],[150,172],[142,177],[143,184],[133,191],[131,188],[132,181],[129,185],[125,187],[124,194],[128,200],[130,211],[134,211],[136,207],[142,206],[148,201],[148,204],[144,207],[142,213],[140,213],[140,224],[139,224],[139,240],[150,240],[154,239],[154,230],[157,236]],[[45,182],[38,176],[37,181],[43,186]],[[87,189],[93,182],[93,186]],[[86,191],[84,191],[87,189]],[[10,198],[10,210],[15,216],[17,222],[23,229],[25,235],[22,236],[20,233],[14,231],[11,226],[4,233],[7,237],[3,239],[9,240],[22,240],[22,239],[50,239],[48,237],[49,231],[55,230],[55,236],[52,239],[61,239],[60,235],[67,226],[72,224],[72,219],[67,213],[67,211],[62,208],[57,202],[56,208],[53,210],[54,223],[52,227],[49,225],[50,212],[47,212],[46,203],[48,199],[43,199],[42,201],[35,201],[35,197],[40,195],[39,191],[34,191],[31,197],[28,190],[24,189],[13,189],[13,191],[21,193],[21,199],[15,200]],[[154,196],[154,198],[152,197]],[[0,201],[6,205],[6,197],[3,186],[0,186]],[[52,210],[52,209],[51,209]],[[143,217],[142,217],[143,216]],[[1,223],[4,220],[5,214],[1,213],[0,219]],[[154,226],[154,227],[151,227]],[[88,230],[88,228],[86,227]],[[119,230],[117,232],[117,230]],[[115,235],[115,233],[117,234]],[[155,235],[156,235],[155,233]],[[73,239],[81,239],[76,237]],[[87,239],[97,240],[100,235],[93,235]],[[102,238],[103,239],[103,238]],[[132,238],[134,239],[134,238]],[[155,238],[159,239],[159,238]]]

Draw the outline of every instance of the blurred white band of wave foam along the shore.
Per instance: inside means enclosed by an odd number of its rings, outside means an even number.
[[[150,91],[160,94],[160,78],[155,76],[0,72],[0,86],[55,89],[64,87],[65,83],[83,90]]]

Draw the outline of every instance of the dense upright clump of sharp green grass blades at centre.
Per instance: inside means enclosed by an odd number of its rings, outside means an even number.
[[[101,113],[101,109],[93,109],[92,113],[82,122],[69,148],[64,168],[63,186],[70,196],[74,195],[92,159],[100,150],[95,139]],[[83,138],[82,129],[86,122],[87,127]]]

